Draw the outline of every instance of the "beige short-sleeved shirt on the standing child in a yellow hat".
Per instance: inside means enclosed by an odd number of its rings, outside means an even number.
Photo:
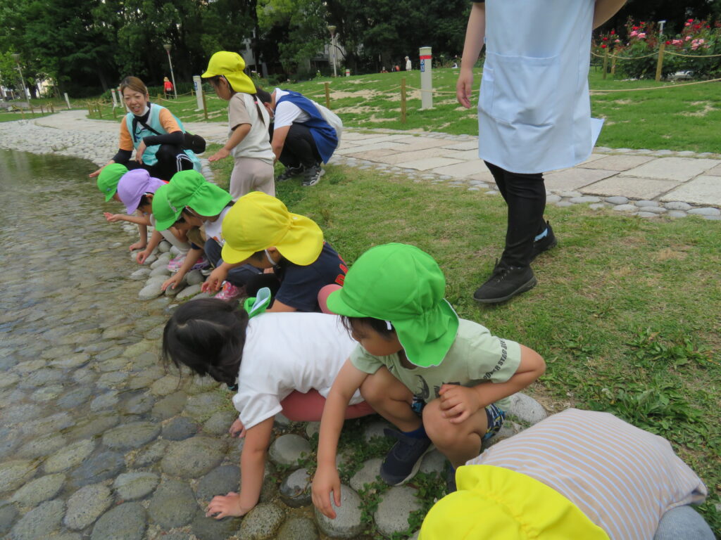
[[[231,151],[234,158],[255,158],[273,165],[273,149],[270,148],[268,126],[270,117],[260,100],[254,96],[236,92],[228,102],[228,136],[241,124],[250,124],[250,131]]]

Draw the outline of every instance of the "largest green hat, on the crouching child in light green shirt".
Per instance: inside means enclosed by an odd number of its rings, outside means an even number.
[[[446,278],[415,246],[384,244],[363,253],[328,308],[347,317],[389,320],[412,364],[438,366],[458,332],[458,315],[443,298]]]

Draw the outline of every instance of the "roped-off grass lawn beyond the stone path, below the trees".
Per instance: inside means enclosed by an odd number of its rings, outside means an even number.
[[[479,84],[480,73],[481,69],[477,68],[476,84]],[[417,89],[420,89],[420,71],[318,78],[282,86],[300,91],[324,104],[324,83],[329,83],[331,108],[348,126],[477,135],[475,109],[464,109],[456,102],[457,77],[457,69],[433,70],[435,108],[425,111],[419,110],[420,91]],[[405,124],[400,122],[402,78],[406,79],[409,87]],[[600,71],[593,68],[589,82],[593,114],[606,119],[598,145],[721,153],[717,135],[717,126],[721,123],[720,83],[679,86],[647,80],[621,81],[610,75],[603,80]],[[672,88],[657,89],[664,86]],[[609,90],[612,92],[601,93]],[[477,92],[474,100],[477,100]],[[203,112],[195,111],[194,97],[180,96],[177,102],[169,99],[160,103],[172,109],[182,120],[203,120]],[[207,103],[208,120],[227,121],[226,102],[208,94]],[[120,109],[116,112],[120,114]],[[105,107],[102,117],[112,118],[112,108]]]

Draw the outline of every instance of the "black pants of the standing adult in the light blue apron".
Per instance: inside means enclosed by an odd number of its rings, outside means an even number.
[[[546,229],[543,174],[512,173],[487,161],[485,163],[508,204],[508,225],[501,261],[510,266],[528,266],[534,238]]]

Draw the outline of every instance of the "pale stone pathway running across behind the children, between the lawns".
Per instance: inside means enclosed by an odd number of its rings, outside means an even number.
[[[188,130],[222,143],[222,122],[190,122]],[[84,111],[64,111],[27,122],[0,124],[0,147],[85,157],[97,164],[117,150],[118,122],[88,120]],[[490,171],[477,154],[477,138],[394,130],[343,132],[331,163],[407,174],[419,181],[497,194]],[[204,174],[211,177],[207,167]],[[721,220],[721,154],[597,147],[580,165],[545,175],[547,202],[640,217],[700,215]]]

